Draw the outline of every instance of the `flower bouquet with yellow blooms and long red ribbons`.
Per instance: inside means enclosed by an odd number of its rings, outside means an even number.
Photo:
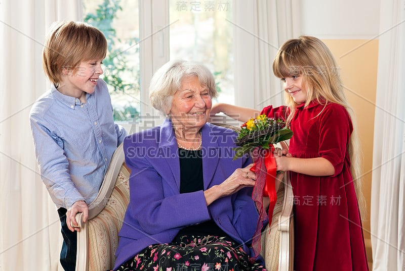
[[[259,211],[259,221],[253,236],[252,247],[255,255],[260,252],[260,237],[263,221],[268,217],[269,223],[273,214],[277,194],[275,191],[275,176],[277,166],[274,159],[273,144],[290,139],[293,131],[286,127],[281,119],[275,120],[266,115],[260,115],[256,119],[250,119],[240,126],[241,130],[235,140],[235,155],[233,159],[251,153],[254,165],[251,171],[255,173],[256,183],[253,188],[252,199]],[[263,197],[268,196],[270,205],[268,216],[263,208]]]

